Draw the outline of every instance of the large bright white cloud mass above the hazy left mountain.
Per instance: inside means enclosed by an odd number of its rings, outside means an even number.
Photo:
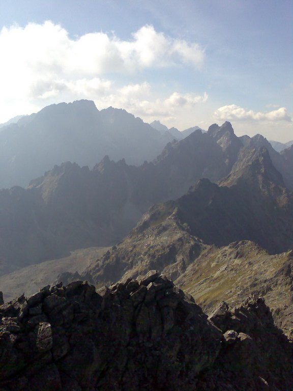
[[[106,74],[133,76],[144,69],[186,64],[199,68],[204,61],[199,44],[173,39],[151,25],[142,26],[128,41],[102,32],[72,39],[63,27],[51,21],[4,27],[0,53],[0,122],[61,100],[108,100],[116,106],[123,100],[145,101],[150,93],[147,84],[118,90]],[[175,96],[172,99],[176,101]],[[148,99],[145,102],[141,107],[152,105]]]

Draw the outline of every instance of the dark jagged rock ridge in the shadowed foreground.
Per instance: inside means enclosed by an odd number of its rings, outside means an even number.
[[[288,391],[291,347],[262,298],[208,319],[156,270],[0,306],[3,391]]]

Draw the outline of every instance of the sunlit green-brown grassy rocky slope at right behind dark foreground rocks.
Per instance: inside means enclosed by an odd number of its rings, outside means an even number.
[[[270,255],[253,242],[204,249],[175,283],[211,314],[221,301],[238,306],[246,297],[265,298],[275,323],[293,340],[293,251]]]

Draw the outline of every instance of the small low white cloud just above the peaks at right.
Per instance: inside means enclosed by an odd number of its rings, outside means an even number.
[[[245,108],[236,104],[229,104],[218,108],[214,112],[214,117],[221,121],[287,121],[291,122],[291,118],[287,114],[285,107],[280,107],[277,110],[261,113],[261,111],[245,110]]]

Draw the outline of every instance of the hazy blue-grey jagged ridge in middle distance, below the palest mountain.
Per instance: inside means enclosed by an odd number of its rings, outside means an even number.
[[[26,190],[1,190],[2,273],[65,257],[75,248],[114,244],[153,204],[180,197],[203,176],[217,181],[227,175],[232,158],[197,130],[169,143],[157,159],[140,167],[107,156],[93,170],[67,162],[33,180]]]

